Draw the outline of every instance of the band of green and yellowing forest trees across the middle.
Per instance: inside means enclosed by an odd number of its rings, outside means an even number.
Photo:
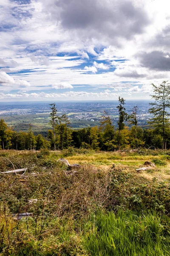
[[[49,108],[51,130],[48,137],[42,134],[34,135],[31,124],[28,132],[13,131],[0,120],[0,146],[2,149],[16,150],[62,150],[70,147],[91,148],[101,151],[114,151],[129,148],[170,148],[170,84],[163,81],[159,85],[153,84],[152,98],[149,113],[153,118],[148,120],[147,128],[138,126],[138,106],[134,106],[128,115],[125,100],[119,97],[117,111],[119,113],[118,128],[115,129],[113,120],[104,111],[99,126],[72,130],[69,117],[66,114],[57,115],[55,103]]]

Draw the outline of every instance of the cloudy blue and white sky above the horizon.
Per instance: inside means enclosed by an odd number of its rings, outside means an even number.
[[[0,0],[0,100],[150,99],[170,79],[169,0]]]

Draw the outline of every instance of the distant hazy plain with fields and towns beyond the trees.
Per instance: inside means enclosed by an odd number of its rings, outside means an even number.
[[[0,118],[4,119],[8,126],[15,131],[28,131],[31,123],[34,133],[47,132],[50,129],[49,113],[51,102],[1,102]],[[104,111],[113,120],[117,127],[118,112],[117,101],[90,101],[90,102],[56,102],[57,114],[69,116],[72,129],[99,125]],[[131,113],[134,105],[139,105],[138,122],[141,126],[147,125],[150,117],[147,113],[149,108],[147,101],[126,101],[127,113]]]

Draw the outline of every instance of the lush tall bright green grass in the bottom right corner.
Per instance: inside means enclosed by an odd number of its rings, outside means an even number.
[[[85,224],[83,241],[91,256],[169,256],[169,228],[166,215],[98,212]]]

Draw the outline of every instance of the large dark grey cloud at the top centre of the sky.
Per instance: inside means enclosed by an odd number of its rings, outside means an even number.
[[[41,0],[44,12],[81,37],[131,38],[150,23],[144,5],[132,0]],[[121,17],[121,18],[120,18]]]

